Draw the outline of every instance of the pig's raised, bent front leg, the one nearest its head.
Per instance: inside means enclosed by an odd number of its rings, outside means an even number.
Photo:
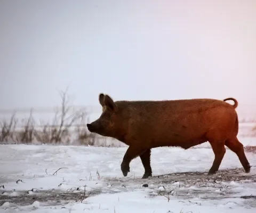
[[[121,163],[121,170],[124,177],[130,172],[130,162],[132,159],[138,157],[141,153],[145,152],[147,149],[131,145],[124,154],[123,162]]]

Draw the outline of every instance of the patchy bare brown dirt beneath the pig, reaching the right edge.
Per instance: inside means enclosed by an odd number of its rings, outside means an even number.
[[[113,187],[125,185],[126,189],[147,190],[149,196],[165,196],[180,199],[180,202],[199,198],[202,200],[221,200],[241,198],[246,206],[256,207],[256,174],[246,174],[242,168],[219,170],[215,175],[202,172],[173,173],[153,176],[148,179],[119,178],[108,179]],[[147,184],[147,187],[142,187]],[[246,190],[250,194],[244,195]],[[183,201],[182,201],[183,200]]]

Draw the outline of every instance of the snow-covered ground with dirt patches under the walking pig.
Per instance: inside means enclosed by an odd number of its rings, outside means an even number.
[[[255,140],[241,138],[246,145]],[[236,154],[227,150],[219,172],[207,176],[214,159],[211,149],[156,148],[151,154],[153,177],[141,179],[144,169],[139,158],[123,177],[120,165],[126,149],[0,145],[0,212],[256,210],[252,152],[246,152],[251,173],[245,174]]]

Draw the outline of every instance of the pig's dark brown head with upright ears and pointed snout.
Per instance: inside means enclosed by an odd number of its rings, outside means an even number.
[[[102,106],[101,116],[87,124],[87,128],[92,133],[102,136],[115,136],[118,128],[122,126],[122,120],[118,116],[118,108],[114,101],[108,95],[100,94],[99,102]]]

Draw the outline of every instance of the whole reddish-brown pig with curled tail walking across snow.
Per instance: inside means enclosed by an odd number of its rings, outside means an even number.
[[[231,100],[234,105],[227,103]],[[246,173],[250,172],[243,144],[237,139],[238,102],[231,97],[224,100],[190,99],[164,101],[113,101],[107,94],[99,94],[101,116],[87,124],[90,132],[113,137],[129,146],[121,163],[124,176],[130,172],[130,162],[138,156],[145,173],[152,176],[151,149],[178,146],[189,149],[209,142],[214,161],[208,175],[217,173],[226,153],[225,145],[236,153]]]

